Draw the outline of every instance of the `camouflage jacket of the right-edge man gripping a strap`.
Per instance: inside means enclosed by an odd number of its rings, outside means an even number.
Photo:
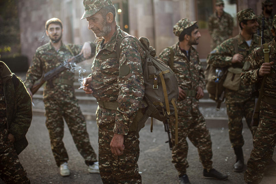
[[[269,62],[276,60],[276,43],[273,39],[268,44],[269,52]],[[244,80],[245,85],[256,84],[260,86],[262,83],[262,78],[258,78],[258,70],[264,63],[264,46],[261,45],[254,49],[252,53],[248,56],[246,62],[249,62],[248,67],[244,65],[244,71],[241,74],[241,78]],[[270,96],[276,99],[276,65],[271,68],[270,74],[267,76],[267,79],[264,83],[264,95]]]

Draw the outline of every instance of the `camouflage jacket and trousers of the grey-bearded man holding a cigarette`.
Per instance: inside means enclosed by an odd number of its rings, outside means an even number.
[[[119,61],[114,57],[104,58],[105,55],[116,53],[118,41],[127,35],[129,34],[123,32],[117,26],[116,32],[106,45],[103,45],[104,38],[95,40],[98,45],[90,75],[92,78],[91,88],[93,96],[100,101],[118,101],[117,110],[109,110],[99,106],[96,112],[99,127],[99,168],[104,183],[109,183],[109,179],[111,182],[118,181],[118,183],[141,183],[141,177],[137,173],[137,160],[139,157],[137,138],[134,140],[137,143],[133,142],[133,145],[129,143],[128,148],[125,144],[124,153],[120,156],[122,160],[130,157],[130,162],[128,163],[130,165],[128,166],[124,162],[117,163],[118,157],[114,156],[110,151],[110,142],[114,133],[125,135],[125,141],[130,137],[134,139],[132,133],[129,132],[129,125],[133,122],[134,115],[138,111],[145,91],[142,71],[145,52],[135,39],[127,37],[122,41]],[[122,65],[125,65],[124,68],[129,67],[129,73],[125,73],[124,76],[119,72]],[[113,132],[111,132],[112,129],[108,128],[109,126],[113,129]],[[106,131],[107,129],[108,132]],[[110,136],[103,137],[102,133],[108,133]],[[102,141],[104,138],[107,141],[106,143]],[[110,166],[116,163],[119,167],[107,168],[105,167],[107,163],[103,163],[104,160],[110,160]],[[125,167],[125,169],[121,169],[121,167]],[[128,171],[125,172],[125,170]],[[132,174],[126,175],[127,173]]]

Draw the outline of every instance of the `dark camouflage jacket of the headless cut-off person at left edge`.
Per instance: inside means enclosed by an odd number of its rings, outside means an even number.
[[[19,154],[28,145],[25,135],[32,121],[32,100],[19,78],[18,85],[14,86],[12,73],[3,62],[0,62],[0,75],[4,84],[7,129],[15,137],[14,147]]]

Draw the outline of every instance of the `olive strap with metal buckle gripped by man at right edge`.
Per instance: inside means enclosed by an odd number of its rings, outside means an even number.
[[[268,49],[267,43],[264,44],[264,62],[269,63],[269,49]],[[255,120],[258,120],[258,118],[259,118],[260,104],[261,104],[262,97],[264,95],[264,83],[265,83],[266,78],[267,78],[267,75],[265,75],[262,80],[262,86],[260,88],[259,98],[258,98],[256,107],[255,107],[255,110],[254,110],[253,119],[255,119]]]

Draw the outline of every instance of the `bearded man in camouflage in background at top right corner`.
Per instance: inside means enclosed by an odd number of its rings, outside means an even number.
[[[259,24],[259,35],[261,36],[261,31],[262,31],[262,18],[264,17],[264,41],[265,43],[269,43],[274,37],[271,33],[272,29],[272,21],[273,21],[273,2],[270,0],[264,0],[262,1],[262,14],[258,16],[258,24]]]

